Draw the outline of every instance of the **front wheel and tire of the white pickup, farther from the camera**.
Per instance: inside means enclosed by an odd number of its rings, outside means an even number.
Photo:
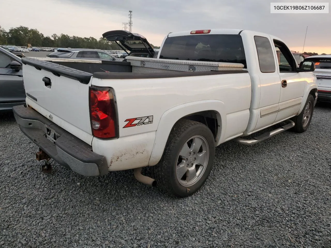
[[[295,122],[293,131],[297,133],[305,132],[309,127],[313,112],[314,112],[314,98],[312,95],[308,95],[304,109],[301,111],[301,113],[298,116],[292,118],[292,120]]]

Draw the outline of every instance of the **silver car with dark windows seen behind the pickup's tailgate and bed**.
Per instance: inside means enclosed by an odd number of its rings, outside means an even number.
[[[58,48],[54,53],[47,55],[49,58],[66,58],[66,59],[80,59],[80,60],[117,60],[114,56],[101,50],[93,49],[72,49],[72,48]]]

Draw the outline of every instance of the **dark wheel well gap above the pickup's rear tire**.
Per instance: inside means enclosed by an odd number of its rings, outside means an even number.
[[[201,112],[192,113],[182,117],[181,119],[187,119],[192,121],[197,121],[205,124],[210,131],[212,131],[214,138],[216,139],[218,133],[218,127],[220,122],[217,119],[217,112],[214,110],[206,110]]]

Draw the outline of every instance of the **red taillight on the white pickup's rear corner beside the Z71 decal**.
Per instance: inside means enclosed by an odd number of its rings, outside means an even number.
[[[114,91],[108,87],[89,87],[92,135],[99,139],[118,138]]]

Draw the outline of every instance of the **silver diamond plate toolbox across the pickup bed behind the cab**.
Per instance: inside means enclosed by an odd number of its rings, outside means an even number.
[[[132,72],[163,72],[163,71],[233,71],[242,70],[241,63],[205,62],[187,60],[165,60],[126,56],[132,65]]]

